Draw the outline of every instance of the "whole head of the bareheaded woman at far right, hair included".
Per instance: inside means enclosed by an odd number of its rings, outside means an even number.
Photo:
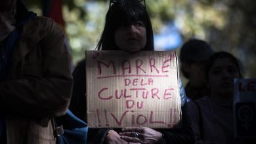
[[[211,96],[232,96],[234,79],[242,78],[243,67],[240,60],[228,52],[216,52],[205,63],[205,78]]]

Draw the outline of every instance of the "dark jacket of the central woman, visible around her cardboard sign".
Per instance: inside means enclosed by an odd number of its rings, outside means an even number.
[[[85,60],[79,62],[77,67],[73,72],[74,77],[74,90],[72,94],[72,99],[70,102],[69,109],[76,115],[86,122],[86,92],[85,92]],[[162,143],[194,143],[194,136],[192,133],[192,128],[190,126],[190,118],[188,115],[188,110],[186,106],[186,94],[184,92],[184,87],[182,86],[181,80],[181,109],[182,109],[182,122],[181,128],[172,129],[158,129],[164,136],[164,141]],[[104,137],[110,129],[93,129],[89,128],[88,132],[88,142],[89,143],[104,143]],[[115,129],[117,132],[120,129]]]

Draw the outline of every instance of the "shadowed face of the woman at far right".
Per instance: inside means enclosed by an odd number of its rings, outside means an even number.
[[[209,73],[209,87],[213,96],[232,96],[234,78],[239,78],[238,67],[229,58],[218,58]]]

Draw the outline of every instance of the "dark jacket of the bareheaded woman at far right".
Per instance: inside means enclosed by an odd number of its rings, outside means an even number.
[[[188,102],[195,143],[197,144],[252,144],[256,139],[234,137],[234,109],[232,103],[210,96]]]

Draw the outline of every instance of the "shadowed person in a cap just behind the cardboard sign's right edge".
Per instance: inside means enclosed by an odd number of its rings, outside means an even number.
[[[181,47],[181,71],[188,79],[185,87],[188,101],[207,95],[203,65],[211,54],[213,54],[211,46],[200,39],[190,39]]]

